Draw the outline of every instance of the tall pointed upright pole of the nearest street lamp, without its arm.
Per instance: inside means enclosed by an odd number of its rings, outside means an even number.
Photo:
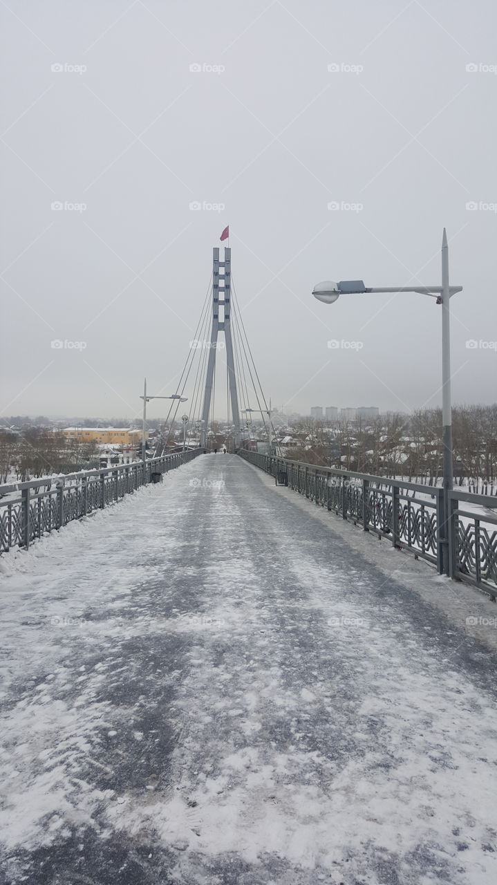
[[[450,289],[448,285],[448,245],[444,227],[442,238],[442,446],[445,538],[448,532],[448,493],[453,488],[452,404],[450,395]],[[448,574],[448,550],[444,544],[444,571]]]

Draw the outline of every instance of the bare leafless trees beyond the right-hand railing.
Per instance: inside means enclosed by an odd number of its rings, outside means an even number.
[[[297,446],[287,450],[287,458],[428,485],[441,480],[441,409],[409,416],[391,412],[367,421],[306,418],[293,429]],[[497,404],[455,407],[452,434],[455,482],[496,494]]]

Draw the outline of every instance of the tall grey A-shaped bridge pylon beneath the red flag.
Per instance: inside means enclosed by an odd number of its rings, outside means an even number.
[[[221,318],[219,318],[220,308],[222,308]],[[212,250],[212,329],[210,332],[209,361],[207,364],[205,392],[203,395],[203,425],[201,435],[201,446],[203,447],[205,447],[207,442],[207,432],[209,429],[214,366],[216,364],[216,353],[218,351],[218,332],[225,333],[226,369],[234,424],[234,446],[235,449],[239,449],[241,445],[240,412],[238,409],[238,393],[236,389],[236,375],[234,373],[233,340],[231,335],[231,249],[227,247],[225,247],[224,261],[219,261],[218,248]]]

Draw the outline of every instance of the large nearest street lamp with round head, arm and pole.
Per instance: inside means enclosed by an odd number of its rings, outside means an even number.
[[[442,305],[442,446],[443,446],[443,489],[445,523],[448,519],[448,492],[453,487],[452,465],[452,404],[450,396],[450,298],[456,292],[462,292],[462,286],[449,286],[448,283],[448,244],[447,232],[444,227],[441,248],[442,284],[441,286],[394,286],[370,289],[362,280],[341,280],[340,282],[325,281],[317,283],[312,294],[324,304],[333,304],[340,295],[368,294],[370,292],[419,292],[421,295],[432,296],[437,304]],[[437,293],[437,294],[435,294]],[[447,547],[447,545],[445,545]],[[446,566],[448,562],[447,550]]]

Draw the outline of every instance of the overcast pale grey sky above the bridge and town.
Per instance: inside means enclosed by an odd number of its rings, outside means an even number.
[[[453,399],[495,400],[490,0],[2,0],[0,14],[2,414],[131,417],[145,374],[172,392],[228,223],[273,404],[440,404],[434,299],[310,293],[440,284],[444,225],[464,287]]]

